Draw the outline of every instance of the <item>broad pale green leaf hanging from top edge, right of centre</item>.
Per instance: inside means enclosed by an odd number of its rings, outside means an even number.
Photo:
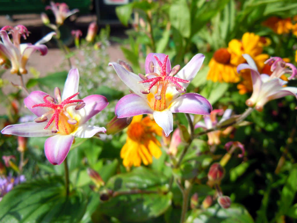
[[[169,20],[181,36],[189,38],[191,34],[190,10],[186,0],[173,3],[169,9]]]

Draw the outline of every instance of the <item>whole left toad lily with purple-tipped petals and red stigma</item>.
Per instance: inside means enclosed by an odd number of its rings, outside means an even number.
[[[26,107],[38,117],[34,122],[8,125],[1,133],[24,137],[52,136],[45,141],[45,156],[50,163],[61,164],[66,158],[74,137],[90,138],[97,132],[106,132],[104,127],[86,122],[108,105],[102,95],[89,95],[78,99],[79,74],[69,71],[61,96],[58,87],[55,98],[42,91],[33,91],[24,99]]]

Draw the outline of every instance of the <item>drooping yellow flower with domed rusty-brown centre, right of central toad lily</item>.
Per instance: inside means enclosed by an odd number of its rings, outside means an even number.
[[[240,78],[236,72],[236,66],[230,63],[230,57],[231,54],[226,48],[220,48],[214,52],[214,56],[211,58],[208,64],[210,69],[206,79],[212,80],[214,82],[238,82]]]

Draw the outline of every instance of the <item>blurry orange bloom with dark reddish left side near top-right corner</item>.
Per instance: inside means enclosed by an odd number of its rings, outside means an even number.
[[[269,27],[279,35],[289,33],[293,26],[290,18],[281,19],[275,16],[268,18],[263,22],[263,25]]]

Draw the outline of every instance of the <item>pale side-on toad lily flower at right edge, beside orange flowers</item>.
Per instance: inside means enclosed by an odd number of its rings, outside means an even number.
[[[259,112],[263,110],[263,106],[270,100],[282,98],[287,95],[293,95],[297,98],[296,87],[283,87],[287,81],[280,79],[284,73],[291,74],[289,79],[292,79],[297,74],[297,69],[294,65],[285,63],[279,57],[271,57],[265,63],[271,65],[272,74],[260,74],[257,70],[255,62],[248,54],[243,54],[244,59],[248,64],[240,64],[237,67],[237,72],[244,69],[251,70],[253,93],[252,96],[246,101],[247,106],[253,107]]]

